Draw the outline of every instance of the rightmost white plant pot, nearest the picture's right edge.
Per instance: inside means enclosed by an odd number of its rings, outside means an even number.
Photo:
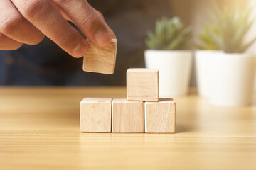
[[[210,103],[231,107],[250,105],[255,68],[256,55],[215,54],[210,59]]]

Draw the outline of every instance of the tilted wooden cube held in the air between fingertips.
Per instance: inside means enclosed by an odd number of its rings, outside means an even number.
[[[88,51],[83,57],[83,67],[85,72],[97,72],[103,74],[113,74],[117,55],[117,39],[112,39],[105,47],[95,45],[87,40]]]

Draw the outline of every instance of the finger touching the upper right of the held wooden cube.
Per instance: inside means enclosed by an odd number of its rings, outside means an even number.
[[[112,39],[112,30],[86,0],[53,0],[81,32],[97,45]]]

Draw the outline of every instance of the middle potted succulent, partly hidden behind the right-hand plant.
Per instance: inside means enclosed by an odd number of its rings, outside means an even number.
[[[219,35],[218,27],[215,24],[209,24],[203,27],[198,36],[199,43],[196,45],[195,52],[196,86],[198,94],[203,97],[208,97],[210,94],[210,57],[214,57],[215,53],[222,52],[208,30]]]

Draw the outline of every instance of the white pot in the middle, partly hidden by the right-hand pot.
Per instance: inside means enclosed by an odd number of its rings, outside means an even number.
[[[210,59],[222,51],[220,50],[196,50],[196,86],[198,94],[208,97],[210,94]]]

